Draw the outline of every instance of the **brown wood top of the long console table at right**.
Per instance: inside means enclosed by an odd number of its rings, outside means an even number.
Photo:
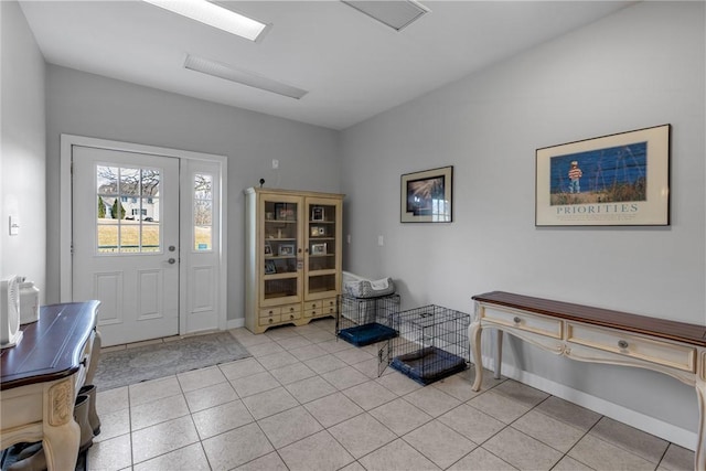
[[[504,291],[492,291],[472,298],[490,304],[505,306],[538,314],[552,315],[592,325],[620,329],[692,345],[706,346],[706,327],[671,321],[590,306],[532,298]]]

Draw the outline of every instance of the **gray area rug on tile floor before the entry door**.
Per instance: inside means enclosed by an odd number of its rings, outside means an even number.
[[[250,356],[228,332],[188,336],[100,354],[98,390],[171,376]]]

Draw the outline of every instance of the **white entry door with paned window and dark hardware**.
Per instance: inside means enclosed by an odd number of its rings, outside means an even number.
[[[103,344],[179,333],[175,158],[74,146],[73,299],[98,299]]]

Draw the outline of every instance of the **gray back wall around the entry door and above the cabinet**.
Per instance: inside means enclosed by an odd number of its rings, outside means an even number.
[[[282,98],[284,99],[284,98]],[[126,82],[49,65],[46,171],[49,232],[60,228],[60,136],[71,133],[228,158],[228,320],[244,317],[243,190],[266,186],[338,192],[339,133]],[[271,170],[279,159],[279,171]],[[47,249],[47,301],[57,302],[58,240]]]

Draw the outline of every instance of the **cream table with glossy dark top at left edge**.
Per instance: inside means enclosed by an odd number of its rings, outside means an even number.
[[[0,353],[0,449],[42,440],[50,471],[76,468],[78,389],[93,382],[100,352],[98,301],[43,306],[22,340]]]

